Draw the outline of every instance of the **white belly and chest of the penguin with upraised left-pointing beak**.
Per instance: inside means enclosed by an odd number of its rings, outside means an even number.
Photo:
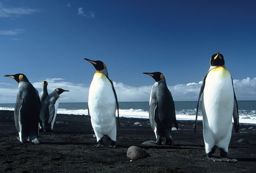
[[[108,78],[97,71],[90,84],[88,96],[89,114],[97,141],[104,135],[116,141],[116,101]]]

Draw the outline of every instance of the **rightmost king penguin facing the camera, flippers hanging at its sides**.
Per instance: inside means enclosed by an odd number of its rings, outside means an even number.
[[[195,125],[201,96],[203,138],[207,159],[212,161],[237,161],[236,159],[227,158],[227,150],[233,126],[232,117],[235,132],[239,129],[238,107],[232,77],[224,65],[223,55],[219,52],[211,56],[210,68],[202,80]],[[220,150],[220,158],[213,158],[211,155],[216,147]]]

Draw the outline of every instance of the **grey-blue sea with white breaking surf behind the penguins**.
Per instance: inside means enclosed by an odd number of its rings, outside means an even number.
[[[197,101],[175,101],[176,119],[195,120]],[[256,124],[256,100],[237,101],[240,123]],[[0,110],[14,110],[15,103],[0,103]],[[149,102],[119,102],[119,116],[148,118]],[[57,113],[87,115],[87,102],[60,102]],[[117,111],[116,111],[117,114]],[[201,106],[198,120],[202,120]]]

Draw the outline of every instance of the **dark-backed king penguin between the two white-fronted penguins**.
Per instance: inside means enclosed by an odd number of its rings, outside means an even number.
[[[160,72],[143,72],[152,76],[155,83],[152,86],[149,99],[149,122],[154,130],[156,143],[172,144],[171,128],[172,122],[178,129],[174,101],[171,92],[166,86],[165,77]]]

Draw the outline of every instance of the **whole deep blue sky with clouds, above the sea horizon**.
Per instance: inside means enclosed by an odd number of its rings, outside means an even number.
[[[84,102],[105,62],[120,101],[148,101],[160,71],[175,100],[196,100],[218,51],[238,100],[256,99],[255,0],[0,0],[0,103],[15,102],[24,73],[41,92],[68,89],[62,102]]]

